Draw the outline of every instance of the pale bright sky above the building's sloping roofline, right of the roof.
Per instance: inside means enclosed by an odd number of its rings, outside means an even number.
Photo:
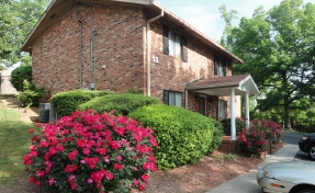
[[[226,5],[227,11],[236,10],[238,19],[233,21],[238,26],[241,18],[250,19],[254,11],[263,7],[265,11],[279,5],[282,0],[157,0],[161,5],[193,25],[210,38],[220,42],[225,27],[218,8]],[[304,0],[315,3],[315,0]]]

